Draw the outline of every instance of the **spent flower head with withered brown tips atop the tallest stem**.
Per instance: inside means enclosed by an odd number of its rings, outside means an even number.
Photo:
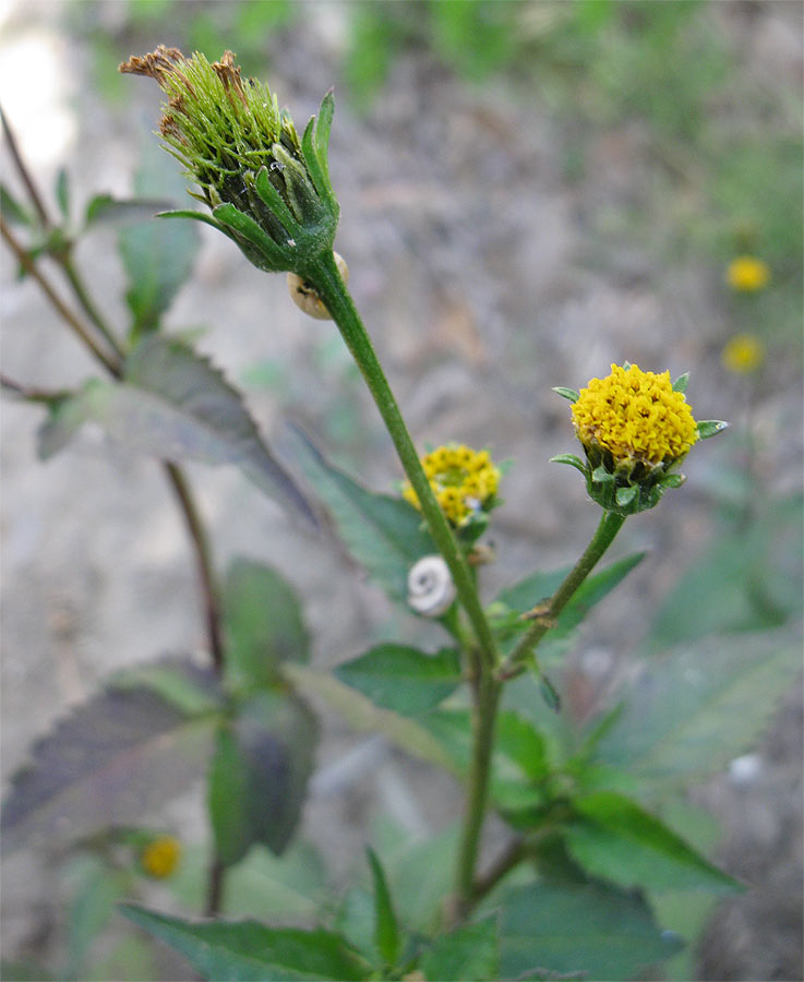
[[[193,196],[212,208],[212,217],[168,214],[215,226],[262,270],[303,275],[307,262],[332,251],[339,214],[327,166],[332,92],[300,137],[267,86],[242,77],[231,51],[211,63],[160,45],[120,71],[159,84],[167,97],[159,132],[199,184]]]

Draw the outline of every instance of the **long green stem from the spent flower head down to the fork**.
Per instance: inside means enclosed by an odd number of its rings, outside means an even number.
[[[435,547],[452,573],[455,588],[475,630],[481,658],[488,668],[497,661],[494,638],[475,587],[469,564],[460,551],[449,525],[441,511],[410,439],[405,420],[399,412],[394,394],[376,357],[371,339],[363,326],[355,303],[340,278],[332,252],[316,256],[303,271],[303,278],[315,288],[326,309],[338,326],[347,347],[363,374],[385,422],[405,474],[421,505],[421,512],[430,529]]]

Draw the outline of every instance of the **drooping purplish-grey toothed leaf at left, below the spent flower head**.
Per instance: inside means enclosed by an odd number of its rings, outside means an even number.
[[[127,358],[122,382],[93,380],[60,402],[39,431],[40,457],[61,450],[89,420],[136,453],[177,464],[233,464],[266,494],[316,523],[240,393],[180,340],[149,335]]]

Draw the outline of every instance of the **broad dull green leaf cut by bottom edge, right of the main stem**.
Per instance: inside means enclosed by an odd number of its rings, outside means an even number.
[[[603,885],[535,883],[503,896],[503,979],[633,979],[681,947],[661,932],[638,897]]]

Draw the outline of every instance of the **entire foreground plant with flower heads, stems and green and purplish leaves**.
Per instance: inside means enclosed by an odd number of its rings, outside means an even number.
[[[369,891],[360,886],[322,903],[314,926],[196,922],[136,903],[122,908],[128,918],[213,979],[625,979],[648,971],[680,947],[657,924],[651,891],[720,893],[736,884],[648,809],[648,778],[619,770],[616,752],[607,757],[607,746],[631,739],[619,712],[569,735],[560,686],[548,672],[586,612],[640,561],[632,555],[596,572],[626,518],[677,488],[686,455],[725,423],[695,421],[686,375],[671,383],[668,372],[627,362],[579,392],[557,388],[572,403],[567,432],[572,423],[584,458],[555,459],[584,475],[602,511],[599,525],[575,565],[533,573],[489,602],[482,572],[494,553],[478,540],[502,505],[503,467],[487,450],[452,442],[420,457],[408,433],[333,250],[339,206],[327,165],[332,93],[299,135],[267,87],[242,77],[231,52],[209,62],[159,47],[121,71],[161,87],[163,141],[206,208],[163,213],[160,220],[189,217],[217,228],[260,270],[290,274],[293,300],[313,316],[329,316],[341,333],[406,481],[396,496],[369,492],[303,436],[298,462],[353,556],[393,601],[434,621],[443,646],[374,645],[333,676],[307,664],[301,611],[278,573],[237,560],[218,576],[179,466],[184,459],[237,464],[310,524],[320,508],[274,458],[237,390],[187,342],[160,333],[160,310],[151,311],[147,331],[123,337],[93,306],[69,249],[61,250],[56,258],[83,320],[61,312],[108,378],[76,392],[36,392],[8,380],[7,387],[45,404],[43,445],[51,452],[92,419],[163,460],[193,543],[211,667],[172,658],[113,680],[17,776],[7,831],[24,840],[32,828],[56,836],[67,825],[111,862],[105,836],[147,803],[117,795],[104,776],[121,749],[131,761],[146,747],[151,763],[156,740],[163,754],[187,754],[188,774],[206,774],[213,846],[205,911],[218,918],[227,884],[254,847],[280,857],[293,840],[314,767],[317,723],[307,697],[315,694],[463,782],[456,835],[420,860],[419,875],[437,886],[434,900],[417,895],[404,903],[398,879],[369,850]],[[38,204],[34,232],[52,236]],[[47,287],[36,258],[5,224],[3,236]],[[152,264],[147,275],[159,272]],[[110,735],[84,753],[87,732]],[[171,743],[177,733],[182,739]],[[196,745],[196,733],[207,742]],[[76,771],[82,798],[73,807]],[[87,788],[89,798],[107,797],[103,817],[87,805]],[[494,849],[481,849],[492,812],[504,831]],[[177,840],[137,835],[142,870],[170,881]]]

